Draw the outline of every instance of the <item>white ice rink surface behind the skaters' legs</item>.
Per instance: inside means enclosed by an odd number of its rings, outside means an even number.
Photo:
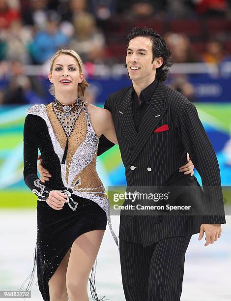
[[[112,216],[112,223],[118,234],[119,217]],[[231,301],[231,216],[213,245],[204,247],[198,236],[192,237],[186,253],[181,301]],[[35,209],[0,211],[0,290],[20,288],[32,270],[35,242]],[[125,301],[119,252],[108,227],[97,257],[96,286],[99,297]],[[31,301],[42,301],[37,285]]]

